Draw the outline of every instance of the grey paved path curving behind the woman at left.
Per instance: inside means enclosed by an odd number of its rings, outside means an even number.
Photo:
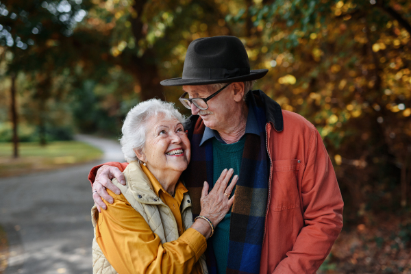
[[[103,160],[0,179],[0,223],[10,242],[5,274],[92,273],[88,171],[105,160],[124,160],[116,141],[76,138],[102,149]]]

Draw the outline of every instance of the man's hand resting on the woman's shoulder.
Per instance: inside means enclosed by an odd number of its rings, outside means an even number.
[[[105,199],[105,201],[109,203],[114,202],[113,197],[108,195],[105,188],[112,190],[116,195],[120,195],[121,193],[120,189],[111,182],[114,177],[120,184],[125,185],[125,177],[116,167],[104,165],[97,171],[95,182],[92,184],[92,199],[95,201],[99,212],[101,212],[101,208],[103,208],[103,210],[107,209],[107,206],[105,206],[105,203],[103,203],[101,199]]]

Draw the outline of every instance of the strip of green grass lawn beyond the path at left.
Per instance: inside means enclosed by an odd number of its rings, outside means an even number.
[[[12,144],[0,143],[0,177],[58,169],[103,155],[99,149],[77,141],[49,142],[44,147],[37,142],[21,142],[19,153],[19,158],[12,158]]]

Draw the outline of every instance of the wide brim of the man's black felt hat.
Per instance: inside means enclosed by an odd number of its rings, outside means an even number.
[[[268,72],[268,69],[253,69],[252,71],[250,71],[249,75],[242,75],[224,79],[183,79],[182,77],[178,77],[162,80],[160,84],[162,86],[197,86],[219,83],[246,82],[260,79],[264,77],[264,75],[266,75]]]

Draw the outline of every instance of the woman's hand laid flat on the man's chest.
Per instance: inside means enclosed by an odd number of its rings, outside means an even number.
[[[201,216],[206,216],[214,227],[216,227],[234,203],[234,195],[229,198],[234,186],[237,183],[238,175],[235,175],[231,184],[227,186],[232,177],[233,169],[223,170],[214,187],[208,193],[208,183],[204,182],[203,192],[201,193]]]

